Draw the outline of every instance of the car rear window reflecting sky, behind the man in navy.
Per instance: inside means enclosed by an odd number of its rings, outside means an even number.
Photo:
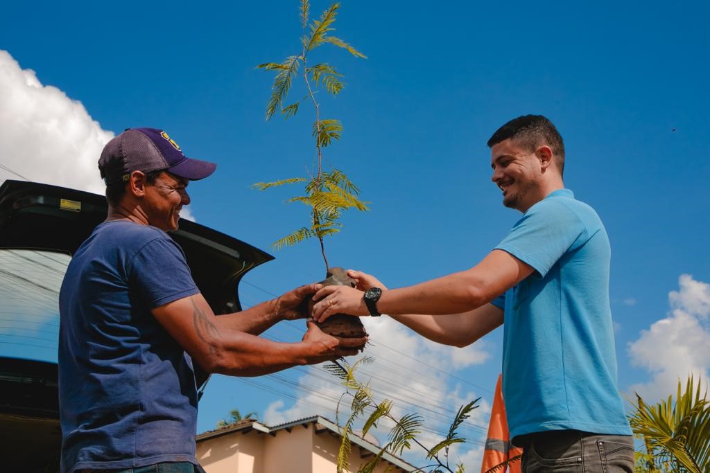
[[[57,362],[59,289],[71,257],[0,250],[0,356]]]

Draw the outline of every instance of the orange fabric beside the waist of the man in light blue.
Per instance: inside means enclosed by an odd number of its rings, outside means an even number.
[[[498,376],[498,382],[496,383],[496,394],[493,395],[493,408],[491,409],[491,421],[488,423],[488,438],[486,438],[486,450],[484,450],[481,473],[486,473],[496,465],[523,454],[522,448],[513,447],[510,444],[506,404],[503,402],[503,391],[501,389],[502,380],[503,375],[501,374],[501,376]],[[510,473],[520,473],[520,460],[509,464],[507,469]],[[498,472],[504,473],[506,468],[496,470],[496,473]]]

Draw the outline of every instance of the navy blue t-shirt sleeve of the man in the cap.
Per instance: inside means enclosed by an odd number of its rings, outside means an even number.
[[[170,238],[155,238],[138,251],[129,281],[150,309],[200,292],[182,248]]]

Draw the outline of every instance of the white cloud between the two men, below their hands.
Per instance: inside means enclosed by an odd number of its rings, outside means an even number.
[[[367,318],[365,323],[373,340],[366,348],[366,355],[373,357],[373,362],[359,369],[359,380],[369,381],[377,401],[392,399],[395,416],[412,412],[420,414],[425,419],[426,429],[420,440],[425,445],[435,445],[442,440],[439,433],[448,430],[459,406],[479,397],[468,388],[464,391],[464,387],[452,381],[447,373],[486,362],[490,355],[484,350],[484,343],[479,341],[464,349],[447,347],[422,338],[388,317]],[[334,412],[337,400],[344,392],[333,378],[322,369],[310,369],[310,374],[298,380],[297,400],[288,406],[282,400],[273,402],[264,413],[264,421],[275,425],[315,414],[332,415],[329,413]],[[347,418],[345,406],[348,405],[349,399],[341,405],[341,423]],[[479,445],[476,442],[481,443],[485,438],[490,406],[485,399],[479,401],[479,406],[461,429],[461,434],[474,443],[467,443],[461,451],[470,449],[471,445],[476,447]],[[383,440],[386,430],[377,430],[376,435]],[[416,449],[413,447],[413,452]],[[475,455],[468,450],[464,453]],[[405,455],[405,458],[417,463],[423,460],[423,456],[416,454]],[[456,458],[452,456],[452,460]],[[474,466],[479,465],[480,462]]]

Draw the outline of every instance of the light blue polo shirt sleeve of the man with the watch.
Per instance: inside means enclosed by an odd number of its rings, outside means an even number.
[[[496,250],[503,250],[545,277],[569,247],[586,233],[576,213],[557,199],[530,207]]]

